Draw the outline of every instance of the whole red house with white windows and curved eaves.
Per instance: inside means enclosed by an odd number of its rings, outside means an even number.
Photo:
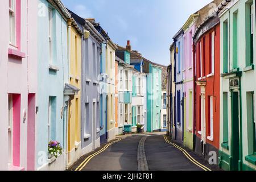
[[[194,36],[194,150],[209,159],[218,156],[220,134],[220,20],[210,17]]]

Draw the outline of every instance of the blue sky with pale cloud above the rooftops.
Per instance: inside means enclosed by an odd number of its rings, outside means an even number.
[[[62,0],[82,18],[95,18],[110,39],[148,60],[170,64],[172,38],[189,16],[212,0]]]

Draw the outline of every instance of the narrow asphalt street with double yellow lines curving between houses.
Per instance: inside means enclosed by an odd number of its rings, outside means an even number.
[[[82,156],[72,171],[208,171],[216,169],[200,156],[189,158],[173,146],[163,133],[136,134],[117,140]]]

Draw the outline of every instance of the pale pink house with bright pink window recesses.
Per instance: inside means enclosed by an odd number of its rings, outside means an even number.
[[[0,170],[35,169],[37,1],[2,1]]]

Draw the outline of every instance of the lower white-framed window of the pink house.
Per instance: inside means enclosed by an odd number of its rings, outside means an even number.
[[[8,96],[8,166],[13,164],[13,96]]]

